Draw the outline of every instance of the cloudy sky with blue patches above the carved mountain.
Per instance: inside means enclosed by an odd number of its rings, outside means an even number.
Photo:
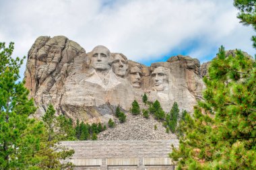
[[[99,44],[150,65],[177,54],[211,60],[218,48],[251,55],[253,29],[232,0],[1,0],[0,41],[26,56],[38,36],[66,36],[90,52]],[[26,63],[22,66],[23,75]]]

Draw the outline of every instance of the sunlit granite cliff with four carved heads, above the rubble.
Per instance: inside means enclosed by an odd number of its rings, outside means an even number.
[[[108,121],[118,105],[129,111],[134,99],[142,105],[144,93],[152,102],[158,99],[166,112],[174,101],[192,111],[203,89],[197,59],[172,56],[146,67],[105,46],[86,52],[64,36],[36,39],[25,80],[38,117],[53,103],[57,114],[87,122]]]

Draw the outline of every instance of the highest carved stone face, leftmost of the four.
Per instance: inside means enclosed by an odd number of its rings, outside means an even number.
[[[96,46],[92,50],[92,67],[96,71],[107,71],[110,69],[110,51],[104,46]]]

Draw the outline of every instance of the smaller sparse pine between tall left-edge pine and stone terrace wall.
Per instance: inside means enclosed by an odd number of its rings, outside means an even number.
[[[42,116],[42,121],[45,131],[41,138],[40,152],[36,155],[42,158],[41,163],[38,163],[38,167],[41,169],[69,169],[72,163],[61,163],[61,159],[71,157],[74,151],[63,148],[59,145],[59,142],[75,138],[73,130],[69,134],[72,122],[64,116],[55,116],[53,105],[49,105],[44,116]]]

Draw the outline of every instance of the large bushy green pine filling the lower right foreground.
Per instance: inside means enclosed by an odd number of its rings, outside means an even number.
[[[179,148],[170,157],[179,169],[254,169],[256,165],[255,60],[220,48],[212,60],[203,101],[194,118],[184,114]]]

